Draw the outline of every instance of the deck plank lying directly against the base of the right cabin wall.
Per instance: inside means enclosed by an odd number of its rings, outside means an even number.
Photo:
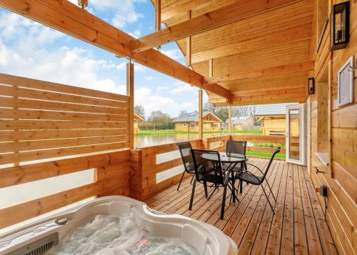
[[[328,229],[325,216],[323,216],[323,211],[321,209],[320,202],[318,201],[316,191],[313,188],[311,178],[308,175],[308,171],[303,171],[303,178],[308,189],[308,196],[311,201],[313,216],[316,222],[318,236],[320,237],[323,254],[338,254],[336,246],[333,243],[330,229]]]

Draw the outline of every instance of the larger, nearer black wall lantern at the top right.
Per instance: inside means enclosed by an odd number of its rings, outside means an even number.
[[[330,25],[331,51],[345,48],[350,40],[350,1],[333,6]]]

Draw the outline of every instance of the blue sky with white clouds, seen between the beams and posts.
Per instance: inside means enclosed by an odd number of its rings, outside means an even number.
[[[134,37],[154,32],[150,0],[89,0],[86,10]],[[160,51],[186,65],[175,43]],[[125,94],[126,63],[127,59],[0,7],[1,73]],[[181,110],[198,109],[196,87],[140,64],[135,64],[134,80],[134,101],[144,106],[146,117],[157,110],[175,117]],[[207,100],[204,93],[203,102]]]

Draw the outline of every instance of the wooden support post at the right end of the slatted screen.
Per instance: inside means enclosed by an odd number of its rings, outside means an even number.
[[[129,147],[134,149],[134,64],[126,64],[126,95],[129,96]]]

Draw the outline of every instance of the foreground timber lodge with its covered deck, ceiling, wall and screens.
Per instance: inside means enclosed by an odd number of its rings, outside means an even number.
[[[277,196],[275,214],[253,185],[244,186],[239,203],[226,204],[220,220],[222,191],[206,201],[200,189],[189,211],[189,179],[180,191],[181,173],[157,181],[181,159],[156,160],[177,151],[175,144],[134,149],[134,65],[129,63],[126,95],[0,74],[0,188],[95,169],[89,184],[0,209],[0,228],[91,197],[123,195],[218,227],[240,254],[356,254],[356,1],[347,1],[345,9],[336,7],[343,0],[152,2],[156,31],[138,39],[66,0],[0,0],[0,6],[205,90],[211,103],[229,107],[229,119],[232,105],[295,103],[288,106],[287,119],[301,123],[298,146],[290,132],[238,136],[229,130],[203,139],[198,92],[201,128],[193,148],[223,150],[227,139],[286,143],[286,160],[274,160],[267,176]],[[156,50],[174,41],[186,65]],[[291,156],[291,147],[298,154]],[[327,197],[316,191],[321,185]]]

